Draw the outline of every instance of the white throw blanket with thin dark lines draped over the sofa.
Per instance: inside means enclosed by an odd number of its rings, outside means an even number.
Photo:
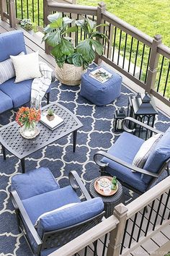
[[[40,61],[39,66],[42,77],[35,78],[32,81],[31,88],[31,107],[36,109],[41,106],[42,98],[50,86],[51,74],[53,72],[53,69],[44,62]]]

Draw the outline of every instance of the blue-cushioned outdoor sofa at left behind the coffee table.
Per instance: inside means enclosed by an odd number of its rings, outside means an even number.
[[[2,33],[0,35],[0,49],[0,62],[9,59],[10,55],[18,55],[22,51],[27,54],[22,31],[14,30]],[[0,85],[0,114],[30,102],[32,79],[17,83],[14,83],[14,80],[15,77]],[[50,88],[48,88],[45,96],[49,103]]]

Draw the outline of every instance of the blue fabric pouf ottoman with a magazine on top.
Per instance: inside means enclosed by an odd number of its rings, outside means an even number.
[[[93,70],[95,69],[98,69],[98,67]],[[112,70],[108,70],[106,67],[104,67],[104,69],[113,74],[112,77],[104,83],[90,77],[89,73],[91,70],[88,70],[88,72],[81,76],[80,95],[97,106],[104,106],[115,101],[121,93],[122,77]]]

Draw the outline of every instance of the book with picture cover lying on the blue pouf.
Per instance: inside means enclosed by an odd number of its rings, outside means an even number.
[[[107,80],[109,80],[109,78],[112,77],[112,74],[109,73],[107,70],[105,70],[103,67],[99,67],[98,69],[91,71],[89,73],[89,76],[99,82],[104,83],[104,82],[107,82]]]

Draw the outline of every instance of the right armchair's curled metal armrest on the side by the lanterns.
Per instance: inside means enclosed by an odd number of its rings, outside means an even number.
[[[122,128],[125,130],[125,132],[135,132],[135,129],[129,129],[126,126],[126,121],[132,121],[134,124],[138,124],[140,127],[146,128],[147,130],[151,131],[151,132],[155,132],[155,133],[164,133],[159,131],[158,129],[154,129],[153,127],[150,127],[147,124],[143,124],[141,121],[138,121],[132,117],[126,117],[125,119],[123,119],[122,121]]]

